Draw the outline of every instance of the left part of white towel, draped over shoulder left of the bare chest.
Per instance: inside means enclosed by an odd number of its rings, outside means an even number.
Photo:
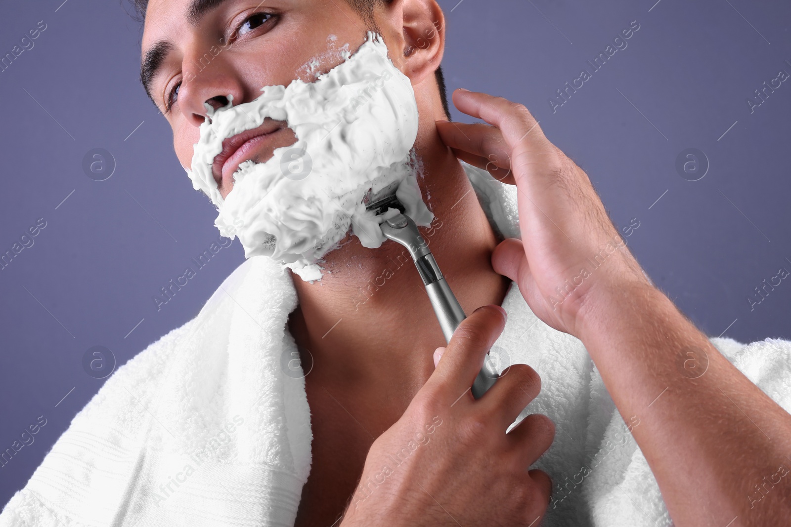
[[[312,440],[304,379],[284,373],[296,305],[279,265],[244,262],[108,378],[0,525],[293,525]]]

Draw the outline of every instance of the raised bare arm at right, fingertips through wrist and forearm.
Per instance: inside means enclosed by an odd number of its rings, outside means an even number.
[[[758,506],[750,501],[763,478],[791,464],[791,416],[650,286],[588,176],[526,108],[475,92],[453,100],[496,129],[437,122],[445,144],[517,185],[520,238],[498,245],[494,270],[517,281],[548,326],[581,339],[621,415],[640,418],[634,437],[676,525],[778,525],[791,517],[791,475],[772,482]],[[694,368],[684,375],[685,348],[693,346],[708,359],[698,378]]]

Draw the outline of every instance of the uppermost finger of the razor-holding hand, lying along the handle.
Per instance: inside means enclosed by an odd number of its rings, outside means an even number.
[[[505,311],[501,310],[494,304],[479,307],[453,332],[442,360],[429,379],[429,382],[437,382],[441,386],[439,397],[455,404],[465,391],[470,390],[481,371],[486,352],[505,327]]]

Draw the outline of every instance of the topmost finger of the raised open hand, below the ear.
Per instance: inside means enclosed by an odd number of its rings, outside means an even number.
[[[513,151],[525,140],[541,148],[549,141],[536,118],[522,104],[502,97],[462,89],[453,92],[452,97],[453,104],[459,111],[497,126],[509,150]]]

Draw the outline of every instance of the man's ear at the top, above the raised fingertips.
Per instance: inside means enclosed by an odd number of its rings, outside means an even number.
[[[392,24],[403,27],[403,62],[395,65],[418,85],[442,62],[445,15],[436,0],[394,0],[388,10]]]

